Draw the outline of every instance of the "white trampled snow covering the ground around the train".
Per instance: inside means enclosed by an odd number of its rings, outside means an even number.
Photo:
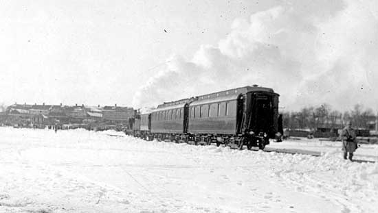
[[[377,145],[356,153],[375,163],[331,142],[271,147],[324,155],[1,127],[0,212],[378,212]]]

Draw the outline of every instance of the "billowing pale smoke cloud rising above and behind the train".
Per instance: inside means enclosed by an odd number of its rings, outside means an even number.
[[[258,84],[298,110],[329,103],[377,109],[378,3],[292,1],[236,19],[217,47],[173,55],[135,94],[135,107]]]

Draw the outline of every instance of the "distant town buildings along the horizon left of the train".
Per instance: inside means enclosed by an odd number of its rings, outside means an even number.
[[[135,110],[128,107],[104,106],[91,107],[85,105],[46,105],[14,103],[0,114],[0,123],[20,127],[45,127],[58,125],[70,127],[81,125],[89,129],[107,125],[126,126]]]

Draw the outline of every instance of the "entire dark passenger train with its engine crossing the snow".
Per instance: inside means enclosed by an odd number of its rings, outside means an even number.
[[[178,101],[164,102],[129,121],[126,134],[144,140],[264,149],[283,135],[278,93],[244,86]]]

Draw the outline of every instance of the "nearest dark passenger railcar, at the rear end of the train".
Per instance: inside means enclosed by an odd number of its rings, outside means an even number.
[[[194,144],[264,149],[278,131],[278,96],[258,86],[202,95],[190,104],[188,134]]]

